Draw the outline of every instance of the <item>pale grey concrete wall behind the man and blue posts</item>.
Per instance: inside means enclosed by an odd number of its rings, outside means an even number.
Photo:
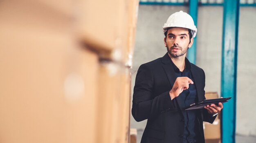
[[[162,57],[167,51],[164,47],[162,26],[167,18],[176,11],[188,12],[186,6],[140,5],[135,40],[133,69],[139,65]],[[237,116],[236,133],[256,136],[256,7],[241,7],[238,41],[237,75]],[[206,74],[205,91],[220,94],[221,49],[222,49],[222,6],[200,6],[198,8],[198,34],[196,65]],[[132,74],[132,90],[135,76]],[[133,93],[133,91],[132,91]],[[249,100],[248,100],[249,99]],[[131,128],[137,128],[139,140],[146,121],[136,122],[131,116]]]

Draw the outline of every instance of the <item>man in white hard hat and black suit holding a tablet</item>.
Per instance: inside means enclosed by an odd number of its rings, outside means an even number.
[[[148,119],[141,143],[204,143],[203,121],[213,123],[222,103],[183,110],[204,97],[205,74],[186,58],[197,28],[192,17],[179,11],[163,26],[167,53],[138,69],[132,116]]]

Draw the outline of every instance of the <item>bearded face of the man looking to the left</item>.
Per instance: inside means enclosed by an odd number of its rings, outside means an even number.
[[[174,27],[168,30],[164,44],[169,56],[177,58],[186,56],[188,48],[193,44],[193,38],[189,43],[189,30],[186,28]]]

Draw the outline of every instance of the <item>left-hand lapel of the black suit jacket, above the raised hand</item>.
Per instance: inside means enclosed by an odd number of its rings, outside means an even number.
[[[172,88],[176,80],[176,77],[175,77],[173,65],[171,64],[171,58],[169,57],[168,53],[166,53],[161,60],[162,60],[162,67],[164,68],[165,74]]]

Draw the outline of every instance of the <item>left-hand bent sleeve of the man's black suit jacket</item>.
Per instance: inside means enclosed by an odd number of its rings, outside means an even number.
[[[154,77],[147,65],[139,67],[135,79],[132,100],[132,116],[136,121],[149,119],[166,111],[174,110],[169,91],[153,95]]]

